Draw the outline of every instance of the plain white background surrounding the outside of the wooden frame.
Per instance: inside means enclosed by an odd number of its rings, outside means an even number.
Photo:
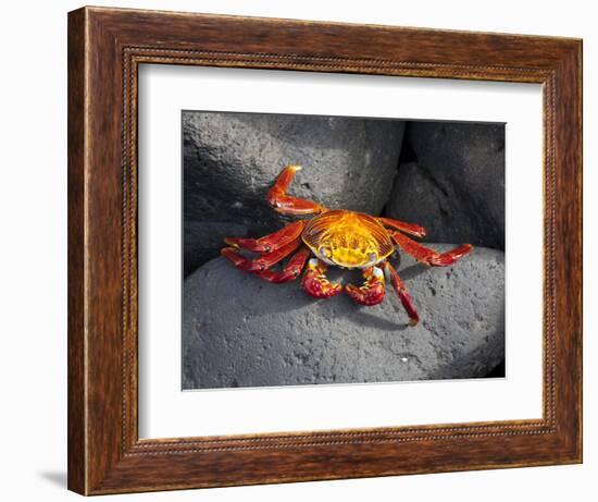
[[[78,0],[9,2],[0,17],[0,498],[80,501],[66,491],[66,11]],[[107,495],[101,501],[593,502],[598,478],[598,32],[568,2],[431,0],[94,0],[95,4],[584,37],[584,464]],[[24,36],[27,34],[27,36]],[[32,84],[32,83],[35,83]],[[565,245],[565,243],[563,243]]]

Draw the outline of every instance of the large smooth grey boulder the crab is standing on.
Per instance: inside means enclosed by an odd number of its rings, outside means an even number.
[[[299,282],[209,261],[184,286],[184,388],[474,378],[504,358],[503,253],[477,247],[447,268],[402,254],[399,270],[422,319],[414,328],[390,287],[375,307],[344,293],[314,301]],[[344,282],[356,273],[331,269]]]

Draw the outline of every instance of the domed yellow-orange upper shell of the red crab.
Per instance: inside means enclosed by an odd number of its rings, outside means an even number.
[[[362,212],[325,212],[313,218],[301,236],[317,257],[346,268],[372,266],[394,250],[386,229]]]

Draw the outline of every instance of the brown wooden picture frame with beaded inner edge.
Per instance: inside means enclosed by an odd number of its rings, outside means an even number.
[[[137,69],[539,83],[539,420],[139,440]],[[68,14],[68,488],[83,494],[582,462],[582,42],[84,8]]]

